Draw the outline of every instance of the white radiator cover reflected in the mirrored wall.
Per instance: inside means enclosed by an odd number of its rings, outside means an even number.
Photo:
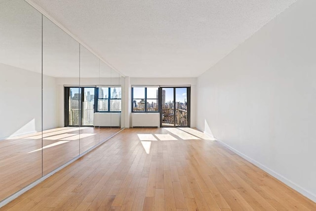
[[[120,113],[94,113],[93,126],[120,127]]]

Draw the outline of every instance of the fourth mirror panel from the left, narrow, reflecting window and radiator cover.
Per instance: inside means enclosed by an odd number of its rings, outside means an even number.
[[[100,142],[111,136],[111,113],[110,113],[110,90],[111,90],[111,68],[100,61],[100,84],[98,90],[98,110]]]

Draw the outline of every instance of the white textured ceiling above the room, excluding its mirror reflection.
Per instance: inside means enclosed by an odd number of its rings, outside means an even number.
[[[296,0],[32,0],[130,77],[197,77]]]

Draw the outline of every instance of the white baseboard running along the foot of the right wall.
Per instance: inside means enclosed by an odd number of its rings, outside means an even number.
[[[207,134],[207,133],[205,133]],[[209,134],[207,134],[209,135]],[[309,198],[310,200],[316,202],[316,195],[314,193],[311,193],[308,190],[305,190],[304,188],[302,188],[301,186],[299,186],[298,184],[296,184],[295,182],[292,182],[291,180],[285,178],[284,176],[282,176],[281,174],[277,173],[276,171],[269,169],[268,167],[262,165],[261,163],[257,162],[256,160],[253,160],[252,158],[246,156],[245,154],[239,152],[238,150],[236,150],[235,148],[229,146],[228,144],[222,142],[221,140],[215,138],[215,140],[220,143],[221,145],[225,146],[226,148],[230,149],[231,151],[235,152],[237,155],[239,155],[240,157],[246,159],[247,161],[249,161],[250,163],[252,163],[253,165],[257,166],[258,168],[266,171],[267,173],[269,173],[270,175],[276,177],[276,179],[280,180],[281,182],[283,182],[284,184],[288,185],[289,187],[293,188],[294,190],[296,190],[297,192],[301,193],[302,195],[306,196],[307,198]]]

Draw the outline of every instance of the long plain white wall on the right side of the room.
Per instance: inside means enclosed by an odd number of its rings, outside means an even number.
[[[197,80],[197,127],[314,201],[315,8],[298,0]]]

